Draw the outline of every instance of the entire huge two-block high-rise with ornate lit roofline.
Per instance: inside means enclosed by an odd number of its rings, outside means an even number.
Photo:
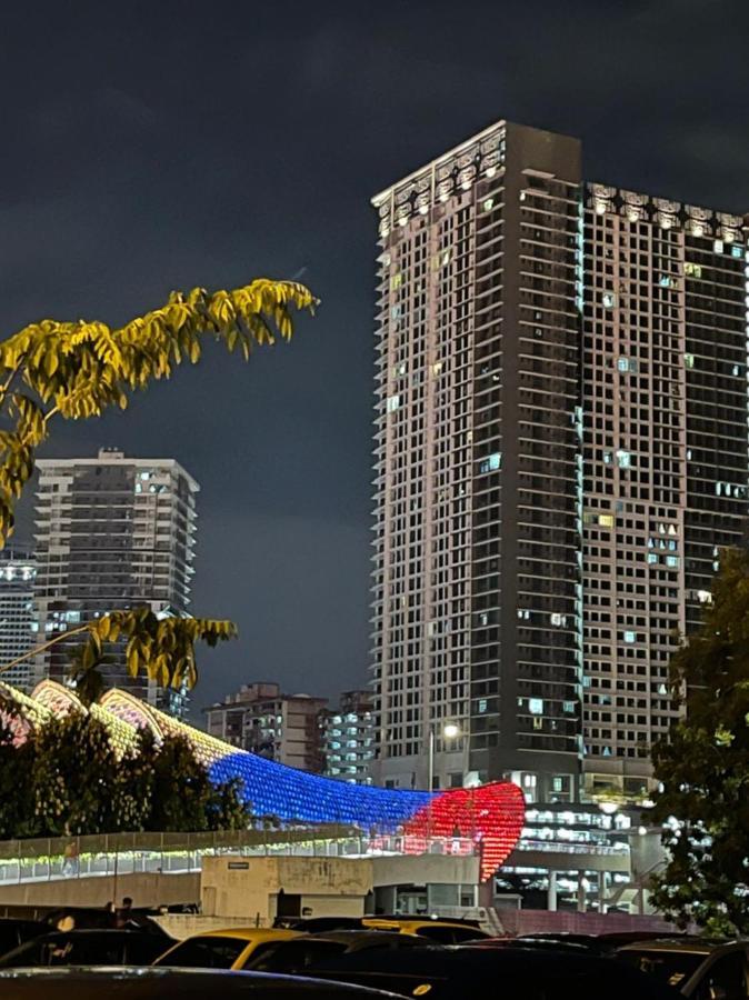
[[[378,760],[640,787],[747,523],[742,221],[500,122],[373,199]],[[446,726],[450,733],[446,736]],[[456,731],[458,736],[456,736]]]

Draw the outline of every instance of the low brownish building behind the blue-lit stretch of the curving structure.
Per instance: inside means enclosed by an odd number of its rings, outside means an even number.
[[[234,747],[303,771],[323,770],[320,716],[327,698],[283,694],[279,684],[242,684],[204,709],[207,731]]]

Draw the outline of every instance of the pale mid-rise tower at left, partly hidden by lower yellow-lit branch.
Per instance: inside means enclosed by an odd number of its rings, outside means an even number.
[[[179,462],[102,449],[97,458],[42,459],[37,466],[40,638],[141,604],[164,616],[188,613],[199,487]],[[38,657],[36,679],[63,680],[72,646],[73,639]],[[173,692],[129,678],[121,651],[102,672],[109,687],[180,709]]]

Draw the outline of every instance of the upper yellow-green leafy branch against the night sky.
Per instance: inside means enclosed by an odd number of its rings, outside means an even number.
[[[53,417],[84,420],[124,409],[133,390],[170,378],[182,362],[196,364],[207,336],[248,360],[256,347],[291,337],[292,309],[314,306],[304,286],[263,278],[233,291],[172,292],[166,306],[119,329],[42,320],[0,343],[0,546]]]

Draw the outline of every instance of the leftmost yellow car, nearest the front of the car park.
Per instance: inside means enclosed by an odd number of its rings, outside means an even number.
[[[280,941],[300,937],[282,928],[237,928],[206,931],[179,941],[164,951],[154,966],[174,969],[244,969],[250,959],[263,954]]]

